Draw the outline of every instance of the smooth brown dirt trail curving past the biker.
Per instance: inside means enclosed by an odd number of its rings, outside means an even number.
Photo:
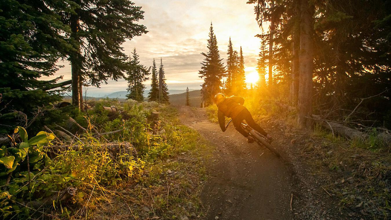
[[[209,179],[201,193],[206,219],[285,220],[289,211],[292,174],[267,148],[249,144],[233,125],[222,132],[204,109],[178,107],[182,123],[215,146]]]

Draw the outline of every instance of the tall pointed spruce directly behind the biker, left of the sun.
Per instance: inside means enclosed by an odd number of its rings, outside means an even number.
[[[225,75],[224,66],[221,63],[219,48],[217,47],[216,35],[213,31],[213,25],[210,24],[210,32],[208,39],[208,53],[201,53],[204,55],[204,62],[201,63],[201,70],[199,74],[204,79],[203,83],[203,102],[206,105],[213,103],[213,97],[216,93],[221,91],[221,79]]]

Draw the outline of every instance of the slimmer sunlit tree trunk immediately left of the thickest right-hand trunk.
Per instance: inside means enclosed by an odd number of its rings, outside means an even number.
[[[298,24],[297,24],[298,25]],[[300,29],[295,27],[292,36],[292,85],[291,85],[291,102],[293,106],[297,106],[299,93],[299,45],[300,45]]]

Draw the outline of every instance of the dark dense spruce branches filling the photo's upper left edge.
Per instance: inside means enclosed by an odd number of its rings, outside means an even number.
[[[54,8],[56,2],[46,0],[0,1],[0,133],[26,126],[16,111],[30,120],[37,106],[51,106],[62,98],[45,91],[61,77],[40,79],[53,75],[64,48],[72,48],[65,41],[70,30]]]

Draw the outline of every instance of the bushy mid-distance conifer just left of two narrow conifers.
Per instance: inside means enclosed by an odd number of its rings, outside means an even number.
[[[149,70],[151,68],[147,68],[140,64],[136,48],[133,49],[132,54],[132,59],[129,62],[129,69],[127,70],[126,79],[128,81],[127,91],[129,94],[126,95],[126,98],[142,102],[144,100],[143,92],[145,89],[143,82],[148,80],[147,76],[149,75]]]

